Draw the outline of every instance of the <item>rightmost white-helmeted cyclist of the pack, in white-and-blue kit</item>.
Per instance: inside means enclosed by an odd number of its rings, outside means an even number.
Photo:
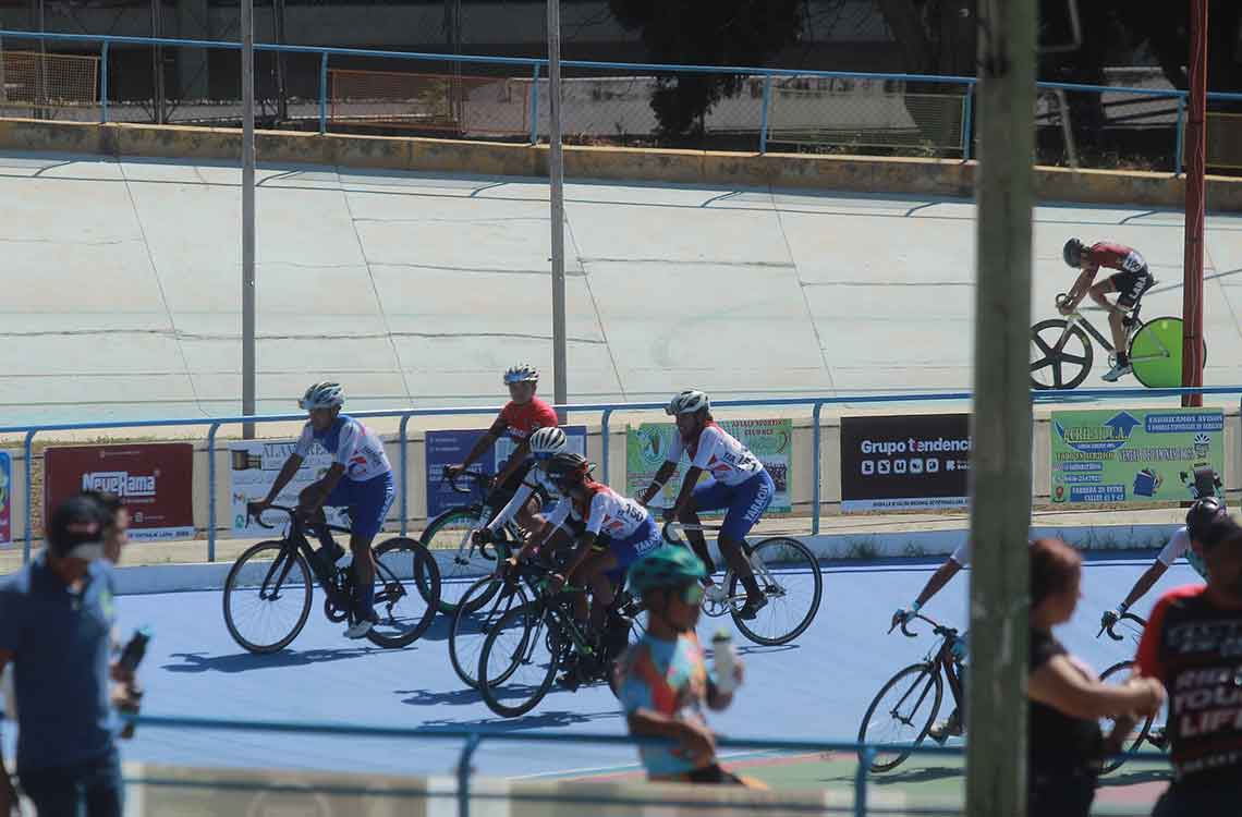
[[[677,468],[682,452],[687,452],[691,467],[682,479],[681,493],[672,508],[664,510],[666,520],[698,526],[700,510],[725,510],[720,526],[720,553],[746,589],[746,603],[738,612],[740,618],[751,620],[768,598],[759,589],[750,562],[741,553],[741,543],[771,504],[776,485],[771,474],[750,451],[728,435],[712,418],[712,401],[702,391],[688,389],[668,404],[664,412],[676,417],[677,435],[668,449],[664,463],[655,479],[642,493],[638,503],[646,507],[660,493]],[[697,485],[699,474],[709,472],[713,482]],[[708,570],[705,582],[709,592],[719,592],[712,586],[710,574],[715,571],[707,549],[707,539],[700,530],[687,530],[687,539]]]

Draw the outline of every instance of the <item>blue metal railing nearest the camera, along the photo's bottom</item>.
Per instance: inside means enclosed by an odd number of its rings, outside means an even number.
[[[457,780],[456,791],[440,791],[440,792],[417,792],[416,797],[441,797],[441,798],[453,798],[457,802],[457,815],[458,817],[469,817],[471,802],[478,801],[494,801],[504,800],[509,797],[505,793],[491,793],[472,790],[472,780],[474,775],[474,769],[472,766],[472,760],[474,754],[478,751],[483,741],[491,743],[537,743],[537,744],[590,744],[595,746],[630,746],[637,749],[642,745],[671,745],[674,741],[663,739],[641,739],[631,738],[628,735],[617,734],[602,734],[602,733],[553,733],[553,731],[522,731],[522,730],[503,730],[503,729],[453,729],[453,728],[409,728],[409,726],[370,726],[361,724],[334,724],[334,723],[314,723],[314,721],[276,721],[276,720],[236,720],[236,719],[216,719],[216,718],[168,718],[156,715],[127,715],[127,720],[134,723],[140,729],[194,729],[194,730],[212,730],[212,731],[230,731],[230,733],[273,733],[273,734],[286,734],[286,735],[322,735],[322,736],[337,736],[337,738],[388,738],[388,739],[404,739],[404,740],[446,740],[446,741],[461,741],[462,746],[457,752],[457,764],[453,767],[453,774]],[[852,808],[831,808],[826,803],[821,803],[818,807],[807,807],[806,805],[790,805],[782,807],[780,802],[766,801],[764,805],[764,813],[773,813],[776,811],[789,811],[790,813],[830,813],[832,811],[852,812],[854,817],[866,817],[869,812],[868,808],[868,786],[869,786],[869,766],[874,760],[876,754],[888,750],[900,750],[909,751],[912,755],[924,755],[924,756],[949,756],[949,757],[963,757],[965,750],[961,746],[932,746],[932,745],[919,745],[910,747],[907,744],[859,744],[848,741],[817,741],[817,740],[770,740],[770,739],[751,739],[751,738],[729,738],[718,736],[717,747],[719,749],[748,749],[754,751],[780,751],[780,752],[850,752],[858,757],[857,771],[853,777],[853,803]],[[1156,762],[1160,765],[1166,765],[1169,762],[1167,755],[1164,752],[1154,750],[1144,750],[1126,755],[1128,761],[1139,762]],[[159,779],[129,779],[127,783],[148,783],[148,785],[164,785],[164,786],[176,786],[178,783],[186,785],[185,779],[178,780],[159,780]],[[262,790],[262,787],[258,787]],[[274,787],[273,787],[274,788]],[[302,791],[313,792],[314,788],[299,787]],[[384,796],[383,790],[375,791],[350,791],[350,793],[366,793],[368,796]],[[558,802],[569,798],[558,798],[555,795],[539,796],[540,802]],[[587,806],[587,802],[580,802],[580,798],[574,798],[574,802],[579,802],[582,806]],[[640,806],[641,803],[630,800],[591,800],[596,805],[633,805]],[[703,810],[709,803],[703,801],[692,801],[686,803],[671,802],[668,800],[662,800],[661,806],[686,806],[696,807]],[[712,805],[717,808],[728,808],[729,811],[745,811],[751,805],[740,803],[717,803]],[[887,812],[884,812],[887,813]],[[960,813],[959,811],[945,812],[943,810],[923,810],[914,805],[909,805],[902,810],[902,813]],[[1143,812],[1146,813],[1146,812]]]

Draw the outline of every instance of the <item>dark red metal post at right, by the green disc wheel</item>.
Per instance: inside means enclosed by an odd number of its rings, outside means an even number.
[[[1186,118],[1186,247],[1181,288],[1181,385],[1203,385],[1203,211],[1207,180],[1207,0],[1190,4],[1190,115]],[[1182,406],[1202,406],[1203,395],[1182,395]]]

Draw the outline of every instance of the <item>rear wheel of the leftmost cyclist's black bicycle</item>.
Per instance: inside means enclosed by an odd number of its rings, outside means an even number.
[[[440,569],[414,539],[394,536],[375,553],[375,612],[379,621],[366,633],[379,647],[405,647],[427,632],[440,600]]]

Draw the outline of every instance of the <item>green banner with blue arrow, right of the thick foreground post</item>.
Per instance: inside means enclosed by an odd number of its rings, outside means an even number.
[[[1223,495],[1220,408],[1054,411],[1051,436],[1053,503]]]

